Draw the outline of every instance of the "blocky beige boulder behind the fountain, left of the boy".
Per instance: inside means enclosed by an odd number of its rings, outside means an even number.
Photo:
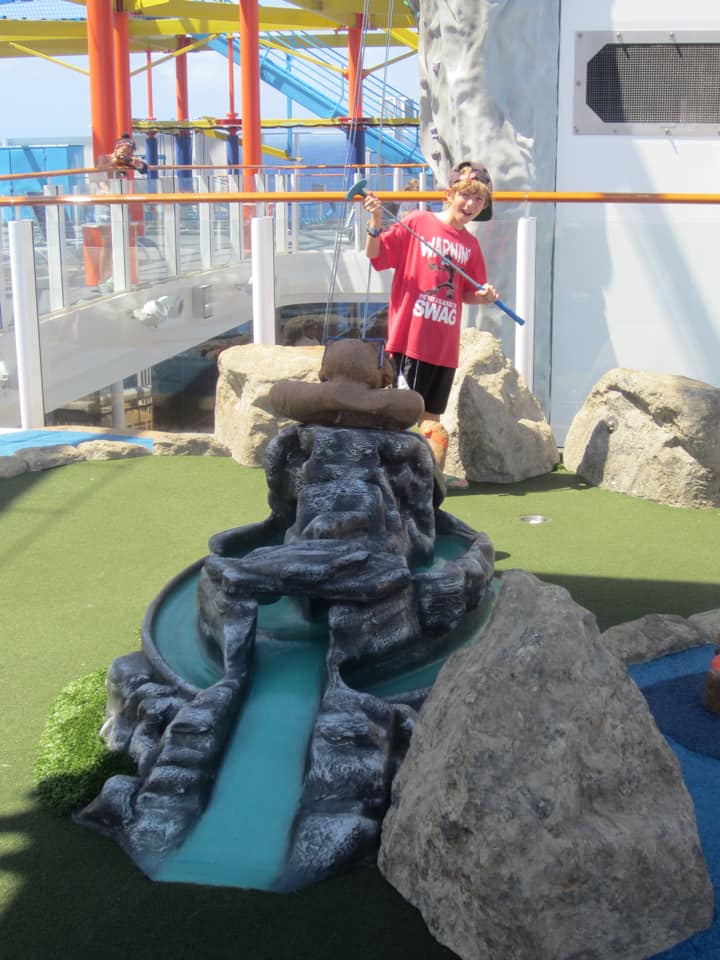
[[[270,390],[280,380],[319,379],[323,348],[277,347],[248,343],[218,357],[215,437],[230,448],[234,460],[261,467],[265,448],[291,420],[278,416]]]

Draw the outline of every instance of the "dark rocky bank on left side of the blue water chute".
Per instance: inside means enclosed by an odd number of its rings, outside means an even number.
[[[110,777],[74,819],[110,837],[150,876],[207,806],[242,705],[254,640],[253,630],[223,679],[206,690],[158,682],[142,653],[119,657],[110,668],[102,735],[135,762],[137,776]]]

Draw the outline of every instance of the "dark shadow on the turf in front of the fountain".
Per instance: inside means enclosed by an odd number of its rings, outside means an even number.
[[[0,817],[3,960],[455,957],[376,868],[292,894],[153,883],[109,840],[26,804]]]

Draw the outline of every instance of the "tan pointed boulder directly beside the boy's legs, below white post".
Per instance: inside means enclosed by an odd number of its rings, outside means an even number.
[[[517,483],[553,469],[560,456],[550,424],[499,340],[464,330],[460,365],[443,416],[445,470],[479,483]]]

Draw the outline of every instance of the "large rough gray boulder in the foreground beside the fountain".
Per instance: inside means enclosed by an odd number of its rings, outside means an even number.
[[[521,571],[423,706],[379,865],[463,960],[641,960],[713,918],[643,695],[592,615]]]

